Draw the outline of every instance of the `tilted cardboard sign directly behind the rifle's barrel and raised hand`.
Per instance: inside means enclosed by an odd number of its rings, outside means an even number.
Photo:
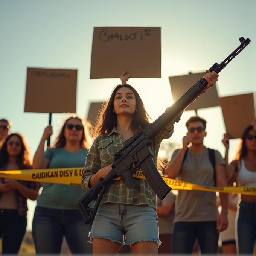
[[[169,76],[173,102],[176,102],[186,91],[198,82],[204,73],[188,74],[183,76]],[[200,95],[192,102],[186,110],[197,110],[199,108],[209,108],[219,105],[216,86],[213,86],[206,93]]]

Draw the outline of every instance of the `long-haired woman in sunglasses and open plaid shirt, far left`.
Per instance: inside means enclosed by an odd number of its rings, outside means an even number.
[[[32,168],[32,157],[24,137],[10,134],[0,149],[0,170]],[[36,200],[38,182],[0,178],[0,238],[2,254],[18,254],[27,227],[27,198]]]

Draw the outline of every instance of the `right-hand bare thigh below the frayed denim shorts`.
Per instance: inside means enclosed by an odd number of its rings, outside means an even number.
[[[158,244],[154,241],[142,241],[131,244],[134,255],[157,255]]]

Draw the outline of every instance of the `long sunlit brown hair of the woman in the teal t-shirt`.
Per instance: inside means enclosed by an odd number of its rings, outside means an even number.
[[[76,115],[69,117],[64,122],[64,125],[61,128],[61,132],[59,133],[59,136],[53,143],[53,146],[56,148],[62,148],[66,145],[66,138],[64,136],[64,130],[65,130],[67,122],[72,118],[78,119],[82,123],[82,126],[83,126],[83,136],[80,140],[80,146],[82,148],[90,149],[91,143],[92,143],[92,139],[91,139],[91,135],[90,135],[91,124]]]

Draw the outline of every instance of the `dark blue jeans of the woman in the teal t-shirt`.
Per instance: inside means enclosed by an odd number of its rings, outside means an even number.
[[[78,210],[35,209],[32,235],[37,254],[59,254],[64,235],[72,254],[92,254],[90,230]]]

